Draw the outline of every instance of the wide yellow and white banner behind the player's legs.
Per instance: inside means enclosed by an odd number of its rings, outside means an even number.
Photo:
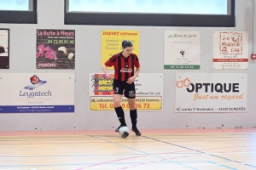
[[[89,111],[114,111],[113,74],[108,80],[104,74],[89,74]],[[163,74],[140,73],[134,82],[138,111],[163,111]],[[121,106],[129,111],[128,100],[123,96]]]

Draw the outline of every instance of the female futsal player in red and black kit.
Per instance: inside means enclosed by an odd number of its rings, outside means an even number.
[[[122,95],[128,99],[128,105],[130,107],[131,117],[131,130],[140,136],[141,133],[137,129],[137,108],[136,108],[136,91],[134,81],[140,72],[140,63],[136,54],[132,54],[132,43],[129,41],[122,42],[123,51],[119,54],[113,55],[108,61],[102,65],[102,70],[108,79],[111,79],[108,74],[107,66],[113,66],[114,68],[114,80],[113,80],[113,106],[116,115],[119,118],[121,125],[119,127],[126,126],[125,113],[121,106]],[[136,71],[134,71],[134,66]],[[119,127],[115,132],[119,132]],[[129,134],[127,134],[128,136]]]

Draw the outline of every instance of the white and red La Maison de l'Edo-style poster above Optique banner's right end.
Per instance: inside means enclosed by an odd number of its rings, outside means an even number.
[[[213,69],[248,69],[248,32],[213,32]]]

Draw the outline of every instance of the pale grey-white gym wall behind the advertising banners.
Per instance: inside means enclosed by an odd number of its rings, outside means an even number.
[[[113,112],[89,112],[88,73],[102,72],[101,31],[140,31],[140,62],[142,72],[164,73],[164,111],[139,112],[139,128],[224,128],[256,127],[256,81],[255,62],[249,59],[249,69],[241,71],[212,70],[212,31],[248,31],[249,54],[256,53],[253,42],[253,0],[236,1],[236,27],[169,27],[169,26],[65,26],[64,1],[38,1],[38,24],[0,24],[10,29],[10,69],[0,72],[74,72],[75,112],[74,113],[19,113],[0,114],[0,131],[21,130],[92,130],[113,129],[119,121]],[[76,31],[75,71],[36,69],[36,30],[73,29]],[[164,31],[201,31],[201,70],[193,72],[247,72],[247,112],[246,113],[175,113],[175,73],[178,70],[163,69]],[[254,38],[253,38],[254,37]],[[254,41],[253,41],[254,39]],[[186,72],[181,70],[182,72]],[[189,71],[190,72],[190,71]],[[4,90],[4,89],[0,89]],[[3,97],[3,96],[1,96]],[[126,122],[131,125],[129,114]],[[187,127],[188,126],[188,127]]]

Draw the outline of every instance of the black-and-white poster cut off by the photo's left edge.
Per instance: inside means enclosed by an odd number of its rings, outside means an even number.
[[[0,28],[0,69],[9,69],[9,29]]]

